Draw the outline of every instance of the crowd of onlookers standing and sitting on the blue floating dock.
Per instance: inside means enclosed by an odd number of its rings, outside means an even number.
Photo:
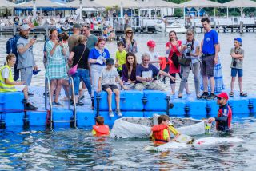
[[[155,42],[153,40],[148,41],[148,51],[142,54],[142,63],[138,63],[138,57],[136,57],[138,45],[134,38],[134,31],[130,27],[126,28],[124,37],[117,42],[115,60],[110,57],[110,52],[106,48],[106,38],[97,38],[94,34],[90,34],[90,23],[82,26],[74,23],[73,34],[70,37],[66,33],[58,34],[56,29],[50,30],[50,38],[46,40],[43,50],[43,62],[46,77],[50,80],[53,105],[62,106],[60,101],[69,99],[68,76],[72,76],[75,97],[71,97],[71,104],[84,105],[81,100],[84,97],[83,90],[87,89],[92,100],[92,109],[94,109],[94,94],[103,90],[108,94],[110,117],[114,116],[111,107],[113,93],[117,105],[115,113],[122,117],[119,107],[121,89],[164,91],[165,89],[158,84],[158,78],[163,77],[170,78],[170,93],[174,95],[178,74],[181,78],[178,97],[182,98],[184,89],[186,89],[187,94],[190,94],[187,83],[190,70],[194,74],[194,87],[198,99],[214,99],[216,85],[221,85],[218,80],[214,79],[215,66],[219,63],[218,33],[211,29],[209,18],[202,18],[202,26],[206,30],[202,42],[194,38],[194,32],[191,30],[187,31],[186,40],[183,41],[178,40],[174,31],[170,31],[169,41],[166,42],[166,56],[168,57],[165,59],[160,58],[156,52]],[[25,95],[27,97],[33,95],[27,90],[27,86],[31,83],[32,74],[38,73],[38,66],[35,64],[33,54],[36,38],[29,38],[30,26],[28,24],[23,24],[20,30],[20,37],[16,44],[18,54],[8,56],[6,59],[8,66],[9,62],[13,62],[16,56],[17,65],[14,65],[14,68],[18,72],[15,72],[15,80],[13,80],[9,77],[10,72],[8,72],[9,74],[5,73],[7,69],[1,69],[2,87],[6,86],[6,90],[2,89],[2,91],[7,91],[9,85],[24,84],[26,85],[24,93],[27,94]],[[241,38],[234,38],[234,48],[231,49],[230,56],[232,58],[230,97],[234,96],[234,80],[237,74],[240,95],[244,97],[247,94],[242,90],[244,50],[242,50]],[[22,83],[16,82],[19,72]],[[202,94],[200,94],[200,78],[202,78]],[[5,79],[9,81],[5,82]],[[217,82],[215,83],[215,81]],[[79,86],[80,82],[82,82],[82,87]],[[60,100],[59,94],[62,88],[65,90],[66,97]],[[33,107],[31,108],[36,109]]]

